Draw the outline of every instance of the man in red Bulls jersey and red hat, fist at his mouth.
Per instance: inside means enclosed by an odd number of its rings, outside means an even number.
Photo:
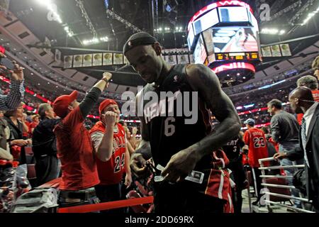
[[[132,182],[130,174],[130,153],[126,143],[125,131],[120,121],[120,109],[113,99],[106,99],[99,106],[101,121],[91,129],[90,135],[97,151],[96,159],[100,184],[95,186],[96,195],[102,202],[121,199],[121,181],[125,173],[125,186]],[[99,157],[100,153],[106,156]],[[112,209],[108,213],[123,212],[123,209]]]

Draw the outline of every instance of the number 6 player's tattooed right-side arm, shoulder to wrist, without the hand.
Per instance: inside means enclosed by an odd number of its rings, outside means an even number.
[[[191,87],[220,121],[220,125],[198,143],[191,146],[199,158],[217,150],[240,131],[240,118],[230,98],[223,92],[216,74],[204,65],[189,65],[186,70]]]

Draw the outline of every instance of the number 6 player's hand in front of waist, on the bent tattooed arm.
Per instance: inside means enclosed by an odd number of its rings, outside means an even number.
[[[180,182],[194,170],[197,161],[194,152],[187,149],[181,150],[171,157],[162,171],[162,177],[171,183]]]

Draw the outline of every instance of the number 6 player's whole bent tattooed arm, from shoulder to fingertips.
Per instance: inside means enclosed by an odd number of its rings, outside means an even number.
[[[189,65],[186,72],[189,84],[198,92],[199,99],[203,99],[206,108],[220,121],[220,125],[198,143],[171,157],[162,171],[162,176],[169,182],[184,179],[204,155],[221,148],[240,131],[240,118],[235,106],[221,89],[216,74],[204,65]]]

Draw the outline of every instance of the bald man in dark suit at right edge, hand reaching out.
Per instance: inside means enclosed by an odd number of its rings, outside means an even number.
[[[288,153],[279,153],[275,158],[290,160],[305,159],[306,185],[308,199],[313,201],[319,213],[319,104],[313,101],[311,90],[298,87],[289,95],[291,109],[296,114],[304,114],[299,132],[299,146]]]

